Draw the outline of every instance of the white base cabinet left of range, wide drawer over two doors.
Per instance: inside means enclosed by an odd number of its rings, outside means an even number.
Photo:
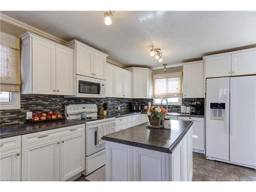
[[[22,177],[63,181],[85,168],[84,124],[22,136]]]

